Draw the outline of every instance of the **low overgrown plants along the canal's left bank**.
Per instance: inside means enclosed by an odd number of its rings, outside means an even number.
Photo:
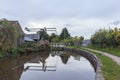
[[[62,48],[52,48],[52,51],[61,51],[64,50]],[[29,55],[30,53],[38,53],[43,51],[51,51],[51,46],[39,46],[37,43],[26,42],[20,47],[0,51],[0,59],[7,59],[10,57],[19,57],[22,55]]]

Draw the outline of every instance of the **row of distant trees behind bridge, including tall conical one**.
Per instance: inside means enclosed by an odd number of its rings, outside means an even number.
[[[66,45],[74,45],[74,43],[78,43],[78,44],[82,44],[82,41],[84,40],[83,36],[75,36],[75,37],[71,37],[69,31],[67,30],[67,28],[63,28],[60,35],[56,35],[55,33],[52,33],[48,40],[50,42],[62,42],[65,43]]]

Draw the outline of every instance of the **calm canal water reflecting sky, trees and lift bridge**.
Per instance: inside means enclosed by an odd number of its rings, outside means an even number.
[[[95,71],[77,53],[42,52],[0,61],[0,80],[95,80]]]

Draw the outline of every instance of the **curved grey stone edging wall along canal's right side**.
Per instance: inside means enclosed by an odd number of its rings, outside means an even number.
[[[77,49],[71,49],[71,48],[64,48],[65,51],[70,51],[70,52],[76,52],[80,55],[82,55],[83,57],[85,57],[86,59],[88,59],[90,61],[90,63],[92,64],[92,66],[94,67],[94,70],[96,72],[96,76],[95,79],[96,80],[105,80],[101,71],[101,63],[100,60],[92,53],[90,52],[86,52],[83,50],[77,50]]]

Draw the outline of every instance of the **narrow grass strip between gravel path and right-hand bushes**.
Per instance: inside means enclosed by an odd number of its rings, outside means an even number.
[[[120,48],[113,48],[113,47],[102,48],[102,47],[97,47],[97,46],[89,46],[89,48],[104,51],[104,52],[108,52],[110,54],[113,54],[113,55],[116,55],[116,56],[120,57]]]

